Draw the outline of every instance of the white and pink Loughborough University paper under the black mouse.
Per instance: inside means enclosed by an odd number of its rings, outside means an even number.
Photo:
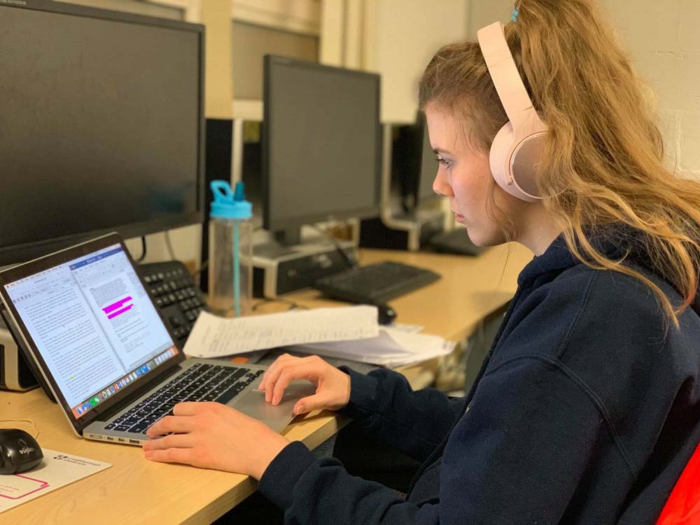
[[[42,451],[43,460],[34,470],[0,476],[0,512],[112,466],[104,461],[81,458],[51,449]]]

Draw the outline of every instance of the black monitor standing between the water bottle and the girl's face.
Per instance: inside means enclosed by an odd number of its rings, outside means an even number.
[[[263,225],[284,244],[301,225],[376,216],[379,76],[265,57]]]

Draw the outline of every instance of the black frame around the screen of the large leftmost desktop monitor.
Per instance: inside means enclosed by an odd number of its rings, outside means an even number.
[[[60,237],[50,239],[38,239],[26,243],[13,244],[11,246],[0,246],[0,266],[24,262],[46,253],[57,251],[71,244],[76,244],[92,237],[104,235],[117,231],[125,238],[141,237],[152,233],[180,228],[181,226],[195,225],[204,220],[204,177],[205,177],[205,116],[204,116],[204,26],[179,20],[168,20],[155,18],[146,15],[136,15],[133,13],[122,13],[106,9],[77,6],[71,3],[63,3],[50,0],[13,0],[13,3],[0,3],[0,9],[28,9],[46,11],[58,15],[73,15],[84,18],[96,18],[100,20],[111,20],[115,22],[126,22],[134,25],[147,25],[179,31],[193,32],[198,35],[199,41],[199,62],[200,62],[200,88],[199,88],[199,130],[197,132],[197,209],[182,214],[158,218],[152,221],[142,221],[139,223],[127,223],[124,225],[113,225],[108,228],[86,230],[85,232],[73,232]]]

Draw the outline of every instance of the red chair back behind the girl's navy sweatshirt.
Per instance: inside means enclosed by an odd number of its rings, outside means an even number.
[[[700,525],[700,445],[673,487],[657,525]]]

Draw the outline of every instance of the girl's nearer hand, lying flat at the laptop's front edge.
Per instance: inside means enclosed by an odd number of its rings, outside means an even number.
[[[181,402],[148,428],[151,461],[239,472],[260,479],[289,441],[257,419],[218,402]]]

